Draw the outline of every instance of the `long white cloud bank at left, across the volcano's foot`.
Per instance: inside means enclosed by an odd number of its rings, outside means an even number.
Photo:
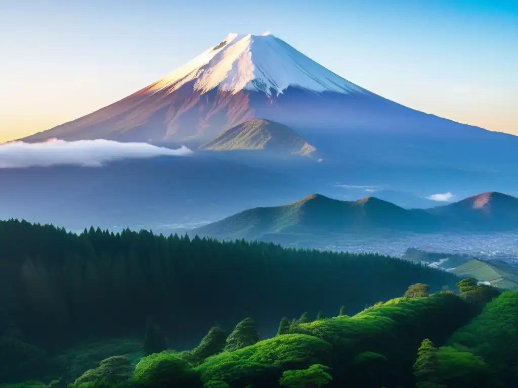
[[[48,167],[79,165],[100,167],[103,163],[126,158],[184,156],[191,154],[182,146],[177,150],[147,143],[119,143],[111,140],[80,140],[67,142],[52,139],[44,143],[21,141],[0,145],[0,168]]]

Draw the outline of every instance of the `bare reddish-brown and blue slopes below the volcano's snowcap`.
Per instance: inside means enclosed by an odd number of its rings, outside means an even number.
[[[218,89],[202,95],[193,91],[192,84],[185,84],[173,92],[167,89],[156,92],[150,85],[106,108],[23,140],[203,142],[253,118],[264,118],[308,133],[390,133],[452,138],[494,135],[481,128],[415,111],[374,94],[315,94],[289,87],[278,96]]]

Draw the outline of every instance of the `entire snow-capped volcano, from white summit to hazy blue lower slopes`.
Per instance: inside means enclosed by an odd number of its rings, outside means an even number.
[[[23,140],[203,143],[253,118],[319,136],[424,135],[441,142],[444,137],[498,138],[494,132],[415,111],[371,93],[274,35],[229,34],[134,94]]]

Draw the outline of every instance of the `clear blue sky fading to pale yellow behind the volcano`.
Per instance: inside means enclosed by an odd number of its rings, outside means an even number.
[[[518,135],[518,0],[0,0],[0,142],[266,31],[383,97]]]

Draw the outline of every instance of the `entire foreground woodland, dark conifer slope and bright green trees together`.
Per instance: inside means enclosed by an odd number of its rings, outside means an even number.
[[[2,388],[518,386],[518,291],[411,262],[24,221],[0,249]]]

